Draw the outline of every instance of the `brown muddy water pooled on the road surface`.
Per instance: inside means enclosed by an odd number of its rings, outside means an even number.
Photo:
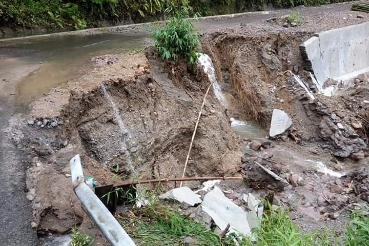
[[[92,66],[91,57],[128,52],[149,42],[141,34],[104,34],[40,39],[0,47],[0,78],[13,82],[20,101],[31,101],[51,88],[76,79]]]

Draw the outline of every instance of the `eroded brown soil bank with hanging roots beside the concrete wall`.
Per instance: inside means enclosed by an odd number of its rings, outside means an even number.
[[[307,151],[362,159],[366,151],[367,119],[356,115],[358,107],[348,107],[348,103],[355,103],[356,95],[367,90],[368,81],[363,79],[346,89],[344,95],[317,94],[311,100],[293,73],[317,92],[299,50],[301,40],[312,34],[298,30],[287,33],[265,30],[256,35],[218,32],[206,37],[204,48],[217,65],[230,101],[242,107],[234,114],[269,128],[273,109],[284,110],[293,121],[286,135],[306,146]],[[366,115],[367,107],[361,106],[363,99],[360,96],[360,105],[356,106]]]

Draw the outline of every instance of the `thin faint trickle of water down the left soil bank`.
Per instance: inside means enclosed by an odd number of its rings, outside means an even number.
[[[122,118],[120,117],[118,107],[117,107],[117,105],[115,105],[115,103],[113,101],[113,98],[111,98],[111,96],[107,93],[106,88],[105,88],[105,84],[101,83],[100,87],[101,87],[101,90],[104,93],[104,96],[105,96],[106,100],[110,103],[110,106],[113,109],[115,119],[117,120],[120,131],[123,135],[123,140],[121,141],[121,149],[124,151],[125,157],[127,158],[127,164],[129,166],[129,168],[131,169],[132,173],[134,173],[134,166],[133,166],[133,162],[132,162],[131,153],[128,151],[128,146],[127,146],[127,141],[129,141],[131,139],[130,133],[124,127],[124,123],[123,123]]]

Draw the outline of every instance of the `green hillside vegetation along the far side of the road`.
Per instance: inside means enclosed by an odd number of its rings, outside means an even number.
[[[1,0],[0,27],[83,29],[117,21],[146,21],[163,17],[183,0]],[[200,15],[262,10],[266,6],[312,6],[345,0],[190,0]]]

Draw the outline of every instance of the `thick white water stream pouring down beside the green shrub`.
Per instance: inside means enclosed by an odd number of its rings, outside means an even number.
[[[215,69],[213,66],[213,62],[211,61],[211,58],[204,54],[204,53],[197,53],[197,62],[199,65],[203,67],[204,72],[207,74],[210,83],[213,83],[213,90],[215,97],[220,101],[220,103],[226,107],[227,106],[227,100],[225,100],[225,97],[222,93],[222,89],[220,88],[220,85],[217,80],[217,75],[215,74]]]

